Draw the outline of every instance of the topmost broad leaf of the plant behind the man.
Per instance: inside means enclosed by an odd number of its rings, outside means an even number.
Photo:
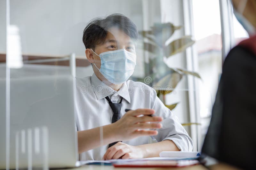
[[[152,26],[153,35],[156,37],[156,43],[159,46],[164,46],[167,39],[169,39],[175,30],[182,26],[174,26],[172,23],[155,23]]]

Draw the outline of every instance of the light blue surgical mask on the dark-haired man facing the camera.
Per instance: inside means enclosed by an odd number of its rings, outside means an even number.
[[[92,52],[95,53],[93,50]],[[101,61],[100,69],[95,63],[93,64],[111,83],[122,84],[133,74],[136,65],[136,54],[120,49],[100,53],[98,56]]]

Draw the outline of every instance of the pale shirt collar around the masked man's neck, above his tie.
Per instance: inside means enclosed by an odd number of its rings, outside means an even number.
[[[105,98],[111,94],[117,93],[119,96],[122,96],[128,103],[131,103],[128,86],[126,81],[123,83],[122,87],[116,91],[109,87],[107,84],[102,82],[94,73],[91,77],[92,89],[97,97],[97,100]]]

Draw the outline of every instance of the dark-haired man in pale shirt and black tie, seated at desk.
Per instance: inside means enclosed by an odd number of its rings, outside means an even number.
[[[94,74],[76,78],[80,160],[139,159],[157,157],[161,151],[192,151],[191,138],[156,91],[128,80],[136,65],[137,39],[136,26],[121,14],[95,18],[84,29],[85,55]],[[148,144],[149,136],[157,143]]]

